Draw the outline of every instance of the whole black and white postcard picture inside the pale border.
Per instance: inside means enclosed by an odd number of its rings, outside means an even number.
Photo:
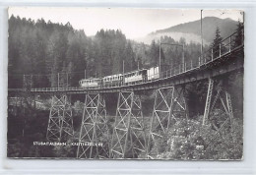
[[[243,159],[242,10],[8,15],[8,158]]]

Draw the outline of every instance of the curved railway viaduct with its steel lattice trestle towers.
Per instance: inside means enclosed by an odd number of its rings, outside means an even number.
[[[187,102],[184,97],[184,90],[188,84],[208,81],[203,125],[219,99],[228,116],[220,130],[227,123],[232,123],[232,106],[226,82],[230,74],[235,74],[237,71],[243,72],[244,64],[243,38],[241,44],[234,45],[234,35],[235,33],[225,38],[220,43],[220,47],[211,48],[201,55],[197,62],[186,62],[171,70],[160,72],[158,80],[101,88],[9,88],[8,94],[14,96],[26,91],[34,95],[50,94],[52,102],[46,138],[48,141],[57,142],[60,142],[65,135],[74,135],[69,97],[72,94],[85,94],[77,158],[125,158],[128,143],[132,146],[132,153],[142,153],[145,158],[155,158],[150,147],[166,134],[170,127],[170,119],[175,117],[176,113],[188,116]],[[149,89],[156,90],[156,97],[149,137],[146,137],[142,103],[137,92]],[[214,90],[217,92],[214,93]],[[103,94],[112,92],[119,94],[115,122],[112,137],[106,138],[109,142],[102,144],[99,138],[109,132]]]

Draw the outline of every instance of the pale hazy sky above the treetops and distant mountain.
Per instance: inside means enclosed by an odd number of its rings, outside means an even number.
[[[67,24],[74,29],[84,29],[94,35],[99,29],[121,29],[128,38],[144,36],[157,29],[166,29],[182,23],[200,20],[200,9],[135,9],[135,8],[42,8],[12,7],[11,15],[46,22]],[[204,17],[243,20],[238,10],[204,10]]]

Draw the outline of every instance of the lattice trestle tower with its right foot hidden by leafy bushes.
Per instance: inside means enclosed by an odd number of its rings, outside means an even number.
[[[177,120],[176,118],[180,116],[188,118],[184,92],[185,87],[161,87],[157,89],[148,140],[148,158],[155,158],[158,154],[151,149],[165,139],[170,119]]]

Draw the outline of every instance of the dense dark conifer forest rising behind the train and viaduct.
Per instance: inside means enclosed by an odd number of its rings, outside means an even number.
[[[220,29],[220,34],[222,29]],[[161,36],[161,42],[184,44],[185,62],[196,64],[200,56],[200,44],[175,41],[170,36]],[[181,63],[182,47],[151,44],[126,38],[121,30],[99,29],[94,36],[84,30],[73,29],[67,23],[53,24],[43,19],[36,22],[12,16],[9,19],[9,87],[23,87],[23,82],[32,82],[32,87],[78,87],[85,78],[104,77],[130,72],[138,67],[159,65],[161,70],[171,69]],[[207,50],[207,47],[204,47]],[[195,66],[195,65],[194,65]],[[25,75],[25,76],[24,76]],[[26,80],[26,81],[24,81]]]

